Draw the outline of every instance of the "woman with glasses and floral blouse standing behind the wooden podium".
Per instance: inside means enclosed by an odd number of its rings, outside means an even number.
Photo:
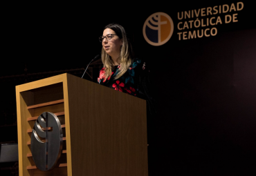
[[[147,86],[149,70],[145,62],[132,58],[125,29],[116,23],[105,26],[100,42],[103,68],[98,83],[146,99],[150,110],[152,97],[149,96]]]

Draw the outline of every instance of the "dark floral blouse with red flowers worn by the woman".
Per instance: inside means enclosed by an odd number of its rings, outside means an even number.
[[[112,68],[112,75],[105,80],[104,68],[102,68],[100,70],[100,77],[98,77],[98,83],[120,92],[146,99],[150,103],[152,97],[149,94],[149,70],[146,67],[146,63],[140,59],[134,59],[127,72],[122,77],[114,79],[118,74],[119,68],[120,66],[114,66]]]

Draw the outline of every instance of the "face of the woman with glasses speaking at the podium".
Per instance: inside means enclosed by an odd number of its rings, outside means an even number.
[[[111,40],[106,39],[106,35],[113,35]],[[119,57],[120,56],[120,48],[122,46],[122,39],[120,39],[116,32],[111,30],[110,28],[107,28],[103,31],[103,36],[105,37],[102,41],[102,47],[107,52],[109,56],[113,57]]]

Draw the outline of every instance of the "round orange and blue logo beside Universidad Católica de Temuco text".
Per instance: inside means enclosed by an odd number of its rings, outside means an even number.
[[[143,36],[152,46],[161,46],[172,37],[174,23],[171,17],[163,12],[150,15],[143,26]]]

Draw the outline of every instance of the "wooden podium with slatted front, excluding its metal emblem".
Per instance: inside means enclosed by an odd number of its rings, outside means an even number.
[[[19,175],[146,176],[146,101],[69,74],[16,86]],[[54,113],[63,130],[55,168],[37,168],[30,137]]]

